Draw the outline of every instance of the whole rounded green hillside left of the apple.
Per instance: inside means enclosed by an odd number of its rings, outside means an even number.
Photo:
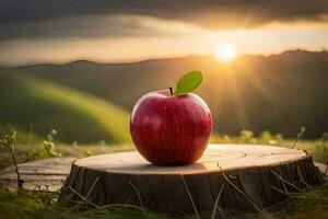
[[[0,123],[66,142],[129,141],[129,114],[99,97],[35,76],[0,69]]]

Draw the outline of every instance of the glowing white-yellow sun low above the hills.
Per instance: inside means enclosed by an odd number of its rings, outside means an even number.
[[[223,43],[218,46],[214,56],[218,61],[231,62],[238,56],[238,49],[232,43]]]

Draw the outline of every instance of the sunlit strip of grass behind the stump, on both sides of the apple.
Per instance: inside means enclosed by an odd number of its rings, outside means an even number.
[[[21,134],[23,134],[21,136]],[[40,150],[43,148],[43,140],[40,137],[35,136],[31,134],[31,141],[27,142],[28,134],[25,134],[24,131],[17,130],[17,146],[16,146],[16,154],[20,160],[25,159],[28,157],[28,154],[35,152],[36,150]],[[21,136],[21,137],[20,137]],[[49,134],[48,134],[49,137]],[[52,138],[52,137],[51,137]],[[50,139],[55,140],[56,139]],[[256,142],[253,142],[255,139],[245,139],[243,136],[237,137],[227,137],[227,136],[219,136],[213,135],[211,138],[212,143],[267,143],[272,146],[282,146],[286,148],[292,148],[295,140],[294,139],[276,139],[267,138],[263,139],[261,137],[256,138]],[[315,162],[321,162],[326,163],[328,160],[328,142],[327,140],[323,139],[316,139],[316,140],[298,140],[296,146],[296,149],[300,150],[307,150],[313,154]],[[74,157],[74,158],[83,158],[86,155],[96,155],[96,154],[103,154],[103,153],[112,153],[112,152],[118,152],[118,151],[128,151],[128,150],[134,150],[134,147],[132,143],[112,143],[107,145],[104,141],[98,142],[97,145],[79,145],[78,142],[73,142],[71,145],[56,143],[56,152],[61,157]],[[37,159],[43,159],[47,154],[42,153]],[[0,169],[8,165],[10,161],[10,154],[3,150],[0,149]]]

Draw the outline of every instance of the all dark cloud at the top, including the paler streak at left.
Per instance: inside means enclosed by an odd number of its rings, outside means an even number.
[[[138,21],[90,19],[95,15],[147,15],[231,28],[273,21],[326,22],[323,14],[327,13],[327,0],[1,0],[0,38],[143,35],[154,31],[141,28]]]

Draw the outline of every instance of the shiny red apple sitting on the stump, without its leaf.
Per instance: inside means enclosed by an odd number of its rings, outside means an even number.
[[[211,131],[211,112],[192,93],[148,93],[137,102],[131,115],[130,132],[138,151],[159,165],[197,161],[208,146]]]

